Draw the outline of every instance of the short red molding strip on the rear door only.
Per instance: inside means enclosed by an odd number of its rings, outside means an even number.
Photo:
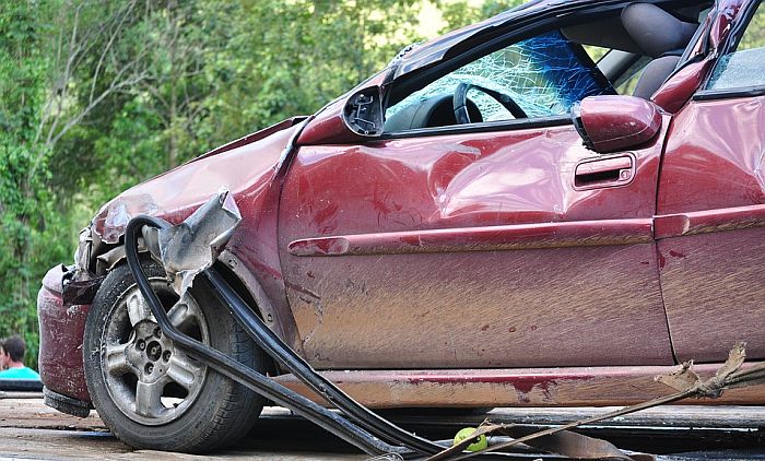
[[[765,205],[664,214],[654,222],[656,239],[765,227]]]

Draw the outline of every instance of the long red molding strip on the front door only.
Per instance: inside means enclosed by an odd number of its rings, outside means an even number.
[[[360,256],[600,247],[652,241],[654,221],[633,218],[305,238],[291,243],[287,250],[298,257]]]

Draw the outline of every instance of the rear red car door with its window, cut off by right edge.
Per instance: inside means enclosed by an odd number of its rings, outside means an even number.
[[[722,362],[737,341],[765,358],[765,7],[743,3],[661,169],[659,267],[680,360]]]

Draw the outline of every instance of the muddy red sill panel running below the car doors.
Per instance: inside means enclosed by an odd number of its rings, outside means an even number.
[[[675,367],[585,367],[460,370],[336,370],[322,375],[356,401],[372,407],[438,406],[601,406],[635,404],[667,395],[671,389],[654,377]],[[696,366],[703,377],[717,366]],[[321,398],[297,378],[274,378],[320,404]],[[717,400],[693,399],[694,405],[752,404],[765,385],[726,391]]]

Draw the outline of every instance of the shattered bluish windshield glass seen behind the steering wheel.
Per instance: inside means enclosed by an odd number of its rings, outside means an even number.
[[[568,114],[574,103],[587,96],[615,94],[581,47],[553,31],[463,66],[389,107],[386,117],[434,96],[454,94],[460,83],[510,96],[529,118]],[[468,97],[478,106],[483,121],[514,118],[480,90],[471,90]]]

